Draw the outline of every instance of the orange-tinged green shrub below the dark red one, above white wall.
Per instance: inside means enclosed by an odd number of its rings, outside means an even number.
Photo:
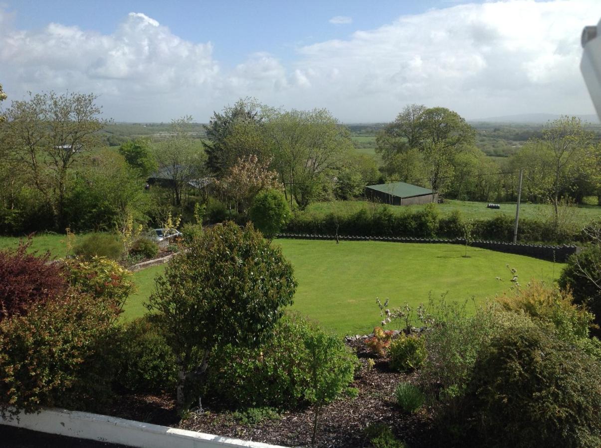
[[[97,410],[111,396],[118,332],[114,306],[69,293],[0,323],[0,402]]]

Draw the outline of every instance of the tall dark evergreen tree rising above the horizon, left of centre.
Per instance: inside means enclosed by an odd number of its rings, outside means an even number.
[[[265,112],[266,107],[252,98],[240,99],[222,113],[213,112],[205,126],[209,140],[203,140],[207,168],[213,175],[221,178],[239,158],[251,154],[267,157],[262,126]]]

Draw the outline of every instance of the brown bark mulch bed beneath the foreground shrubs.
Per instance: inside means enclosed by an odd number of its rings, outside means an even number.
[[[370,446],[364,429],[370,423],[384,423],[411,447],[432,446],[432,418],[423,408],[415,415],[403,413],[394,401],[394,390],[401,381],[415,382],[416,375],[400,374],[388,369],[388,361],[376,360],[373,369],[367,368],[368,353],[364,341],[347,341],[359,357],[361,368],[350,385],[359,391],[357,398],[340,398],[322,408],[317,430],[317,447]],[[310,446],[314,413],[311,408],[285,411],[279,419],[246,425],[231,411],[192,411],[178,422],[172,396],[127,395],[115,402],[111,414],[126,419],[159,425],[174,426],[191,431],[206,432],[244,440],[260,441],[282,446]]]

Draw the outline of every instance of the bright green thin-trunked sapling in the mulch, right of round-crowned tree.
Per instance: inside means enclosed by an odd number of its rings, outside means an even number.
[[[305,338],[305,348],[310,359],[307,399],[314,408],[311,444],[315,444],[319,411],[348,386],[355,369],[346,346],[334,335],[310,333]]]

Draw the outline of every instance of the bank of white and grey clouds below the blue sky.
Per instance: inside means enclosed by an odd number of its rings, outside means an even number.
[[[183,40],[142,13],[100,34],[58,23],[18,30],[0,9],[0,82],[17,99],[28,90],[94,92],[105,115],[124,121],[207,121],[246,96],[328,107],[343,121],[389,121],[407,103],[468,118],[593,113],[579,37],[598,17],[598,0],[457,5],[299,47],[287,64],[258,52],[224,70],[212,43]]]

